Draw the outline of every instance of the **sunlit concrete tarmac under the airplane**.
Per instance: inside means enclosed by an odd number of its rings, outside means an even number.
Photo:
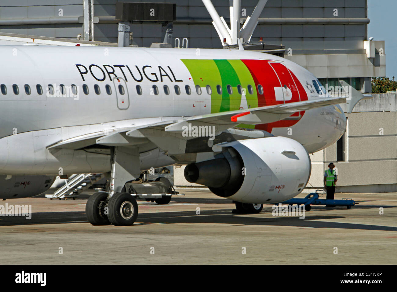
[[[2,264],[396,264],[397,193],[335,194],[359,202],[299,216],[233,214],[205,188],[177,189],[168,205],[138,201],[133,226],[92,226],[77,199],[8,199],[31,219],[0,217]],[[302,193],[298,197],[304,197]],[[383,214],[380,214],[382,213]]]

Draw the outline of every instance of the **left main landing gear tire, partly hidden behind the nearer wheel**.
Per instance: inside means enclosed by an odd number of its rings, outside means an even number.
[[[108,215],[104,214],[102,205],[108,198],[108,193],[98,192],[94,193],[88,198],[85,204],[85,215],[88,221],[93,225],[109,225]]]

